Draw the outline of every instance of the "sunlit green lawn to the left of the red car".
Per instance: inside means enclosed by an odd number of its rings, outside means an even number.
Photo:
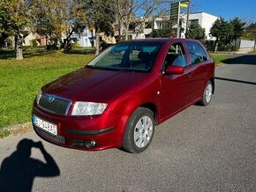
[[[0,51],[0,136],[8,135],[3,127],[30,121],[33,100],[42,85],[78,70],[93,57],[27,50],[24,60],[16,61],[12,51]]]

